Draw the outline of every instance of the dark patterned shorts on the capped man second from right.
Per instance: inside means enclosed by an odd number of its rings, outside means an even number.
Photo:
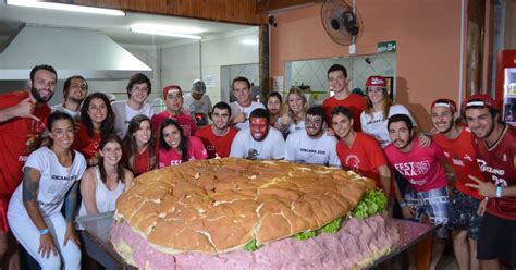
[[[453,189],[450,204],[450,230],[466,230],[468,237],[478,240],[482,217],[478,216],[480,200],[470,197],[456,188]]]

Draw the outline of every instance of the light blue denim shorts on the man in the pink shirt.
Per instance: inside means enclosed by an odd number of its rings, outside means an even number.
[[[405,192],[407,206],[414,209],[414,220],[421,222],[425,217],[430,219],[430,223],[441,224],[435,231],[435,237],[447,238],[447,217],[450,211],[450,198],[446,187],[434,188],[428,192],[416,192],[409,187]]]

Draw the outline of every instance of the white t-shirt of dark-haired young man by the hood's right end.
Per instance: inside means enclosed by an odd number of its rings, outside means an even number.
[[[113,108],[114,112],[114,130],[116,131],[116,135],[120,138],[124,138],[125,133],[127,132],[127,126],[130,121],[139,114],[144,114],[147,118],[151,119],[155,115],[155,109],[148,103],[144,103],[140,110],[133,110],[127,105],[125,100],[119,100],[111,103],[111,108]]]

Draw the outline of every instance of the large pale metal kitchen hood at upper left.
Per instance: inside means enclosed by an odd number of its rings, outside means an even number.
[[[126,79],[152,70],[105,34],[96,30],[25,25],[0,53],[0,79],[28,79],[37,64],[50,64],[64,79]]]

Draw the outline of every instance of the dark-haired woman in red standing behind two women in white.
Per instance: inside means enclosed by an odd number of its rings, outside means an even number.
[[[99,162],[100,137],[114,132],[114,113],[108,97],[102,93],[86,97],[73,148],[86,157],[88,167]]]

